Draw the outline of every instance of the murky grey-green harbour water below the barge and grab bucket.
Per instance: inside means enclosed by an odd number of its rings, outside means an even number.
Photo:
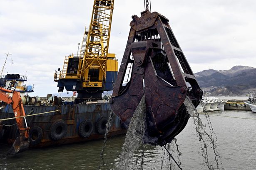
[[[226,170],[254,170],[256,167],[256,114],[250,111],[214,111],[209,112],[210,121],[217,136],[217,150],[221,157],[221,168]],[[214,114],[214,115],[211,115]],[[228,117],[219,117],[228,116]],[[249,119],[237,119],[243,117]],[[200,114],[203,123],[207,122],[204,114]],[[114,169],[119,162],[119,155],[125,136],[107,139],[104,151],[102,170]],[[170,144],[170,151],[176,160],[181,162],[183,170],[208,169],[202,156],[202,143],[196,134],[193,119],[189,119],[186,128],[176,136],[179,145],[178,156],[175,143]],[[103,140],[76,143],[57,147],[30,149],[14,157],[0,160],[0,170],[97,170]],[[209,162],[214,164],[214,153],[209,145]],[[10,146],[0,146],[0,156],[7,152]],[[141,166],[141,155],[143,165]],[[163,170],[179,169],[169,159],[164,148],[143,145],[135,150],[134,161],[129,169]],[[171,163],[171,168],[170,168]],[[216,168],[216,166],[215,166]]]

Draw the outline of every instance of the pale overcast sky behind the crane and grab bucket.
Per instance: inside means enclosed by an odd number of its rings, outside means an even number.
[[[55,70],[77,53],[94,0],[0,0],[0,69],[28,75],[32,96],[57,92]],[[194,73],[256,67],[256,0],[151,0],[152,12],[169,19]],[[109,52],[122,60],[132,15],[144,0],[115,0]],[[12,64],[13,62],[13,64]]]

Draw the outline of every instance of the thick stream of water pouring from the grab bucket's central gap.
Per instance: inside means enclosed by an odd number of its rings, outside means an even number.
[[[145,129],[145,113],[146,104],[143,96],[129,124],[122,151],[119,155],[120,161],[116,166],[117,170],[127,170],[130,161],[133,159],[134,150],[142,143]]]

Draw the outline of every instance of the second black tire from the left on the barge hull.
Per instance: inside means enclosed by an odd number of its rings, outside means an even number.
[[[67,134],[67,124],[62,119],[56,120],[50,127],[50,138],[57,141],[62,139]]]

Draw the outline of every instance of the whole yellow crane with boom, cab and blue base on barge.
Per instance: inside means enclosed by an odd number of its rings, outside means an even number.
[[[66,88],[77,91],[80,98],[99,99],[104,90],[113,90],[118,68],[116,55],[108,53],[113,9],[114,0],[94,0],[80,54],[66,56],[62,71],[55,71],[59,92]]]

